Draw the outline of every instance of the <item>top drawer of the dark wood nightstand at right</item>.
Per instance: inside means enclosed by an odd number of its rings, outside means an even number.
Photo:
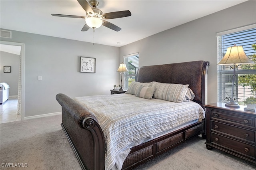
[[[232,123],[233,125],[238,125],[241,127],[256,128],[255,117],[248,117],[244,115],[235,115],[231,113],[225,113],[223,111],[212,110],[210,113],[211,119],[226,121]]]

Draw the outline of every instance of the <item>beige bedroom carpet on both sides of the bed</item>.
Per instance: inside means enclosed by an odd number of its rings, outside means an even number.
[[[0,169],[81,170],[60,123],[61,116],[52,116],[0,124]],[[236,156],[207,150],[204,142],[198,136],[136,170],[256,169],[255,164]]]

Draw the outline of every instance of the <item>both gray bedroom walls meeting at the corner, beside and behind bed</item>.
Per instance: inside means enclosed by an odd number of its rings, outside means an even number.
[[[256,1],[244,2],[120,48],[17,31],[12,31],[12,39],[1,40],[25,44],[25,117],[60,112],[57,93],[72,98],[109,94],[120,82],[116,69],[122,56],[136,52],[140,66],[210,61],[208,103],[212,103],[217,101],[216,33],[253,24],[255,14]],[[96,73],[79,73],[79,56],[96,58]]]

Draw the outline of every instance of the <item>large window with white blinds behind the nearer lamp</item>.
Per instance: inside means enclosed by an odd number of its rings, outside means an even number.
[[[228,47],[241,45],[246,55],[256,63],[256,24],[217,34],[218,62]],[[218,63],[217,62],[217,63]],[[231,97],[233,69],[228,65],[218,66],[218,102],[228,102]],[[246,97],[256,95],[256,64],[240,65],[236,70],[234,99],[239,104]]]

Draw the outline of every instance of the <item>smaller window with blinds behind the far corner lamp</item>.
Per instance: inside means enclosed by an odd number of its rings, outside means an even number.
[[[124,56],[124,63],[129,71],[124,73],[123,89],[128,89],[131,82],[135,81],[135,76],[139,68],[139,53]]]

